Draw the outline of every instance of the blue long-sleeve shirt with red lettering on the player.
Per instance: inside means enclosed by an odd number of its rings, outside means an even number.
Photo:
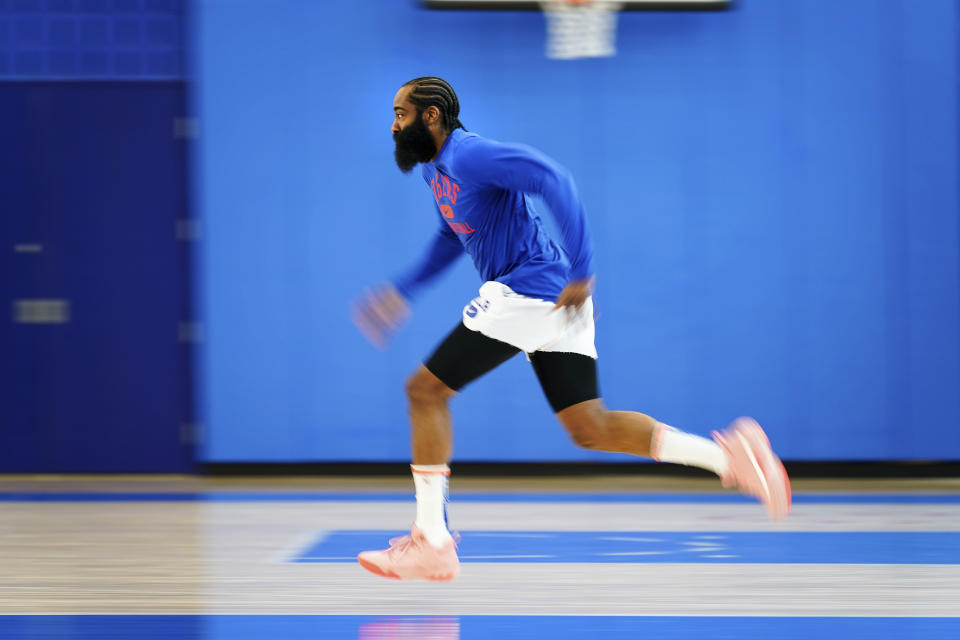
[[[436,159],[423,163],[423,178],[440,226],[420,262],[394,281],[404,297],[414,297],[464,251],[484,281],[544,300],[556,300],[571,280],[593,274],[573,179],[536,149],[455,129]],[[553,213],[562,249],[543,229],[530,195]]]

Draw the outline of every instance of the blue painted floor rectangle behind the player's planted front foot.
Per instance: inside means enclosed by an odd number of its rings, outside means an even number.
[[[352,562],[380,549],[387,531],[330,531],[292,562]],[[704,562],[960,564],[960,532],[602,532],[461,533],[463,562]],[[960,611],[960,609],[958,609]]]

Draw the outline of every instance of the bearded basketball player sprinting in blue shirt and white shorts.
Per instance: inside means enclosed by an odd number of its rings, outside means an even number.
[[[760,426],[736,420],[713,440],[642,413],[610,411],[597,390],[592,250],[570,174],[530,147],[468,133],[453,88],[416,78],[397,91],[395,159],[422,166],[438,227],[423,259],[355,305],[354,319],[382,345],[409,315],[409,302],[467,253],[484,284],[463,321],[407,380],[417,516],[410,535],[360,564],[395,579],[446,581],[460,571],[447,529],[450,398],[523,351],[560,424],[581,447],[629,453],[715,472],[725,487],[759,497],[774,519],[790,510],[790,481]],[[560,230],[552,238],[528,196],[541,197]]]

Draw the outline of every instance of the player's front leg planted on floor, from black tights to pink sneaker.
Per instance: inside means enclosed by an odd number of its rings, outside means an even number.
[[[448,402],[464,386],[519,349],[458,325],[407,380],[417,517],[410,535],[384,551],[364,551],[364,568],[388,578],[452,580],[459,560],[447,529],[447,483],[453,436]]]

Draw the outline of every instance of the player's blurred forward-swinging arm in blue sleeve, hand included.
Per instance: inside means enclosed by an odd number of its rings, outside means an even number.
[[[387,339],[410,317],[410,300],[463,255],[463,247],[446,225],[437,230],[423,257],[391,282],[367,291],[353,304],[353,321],[370,342],[386,346]]]

